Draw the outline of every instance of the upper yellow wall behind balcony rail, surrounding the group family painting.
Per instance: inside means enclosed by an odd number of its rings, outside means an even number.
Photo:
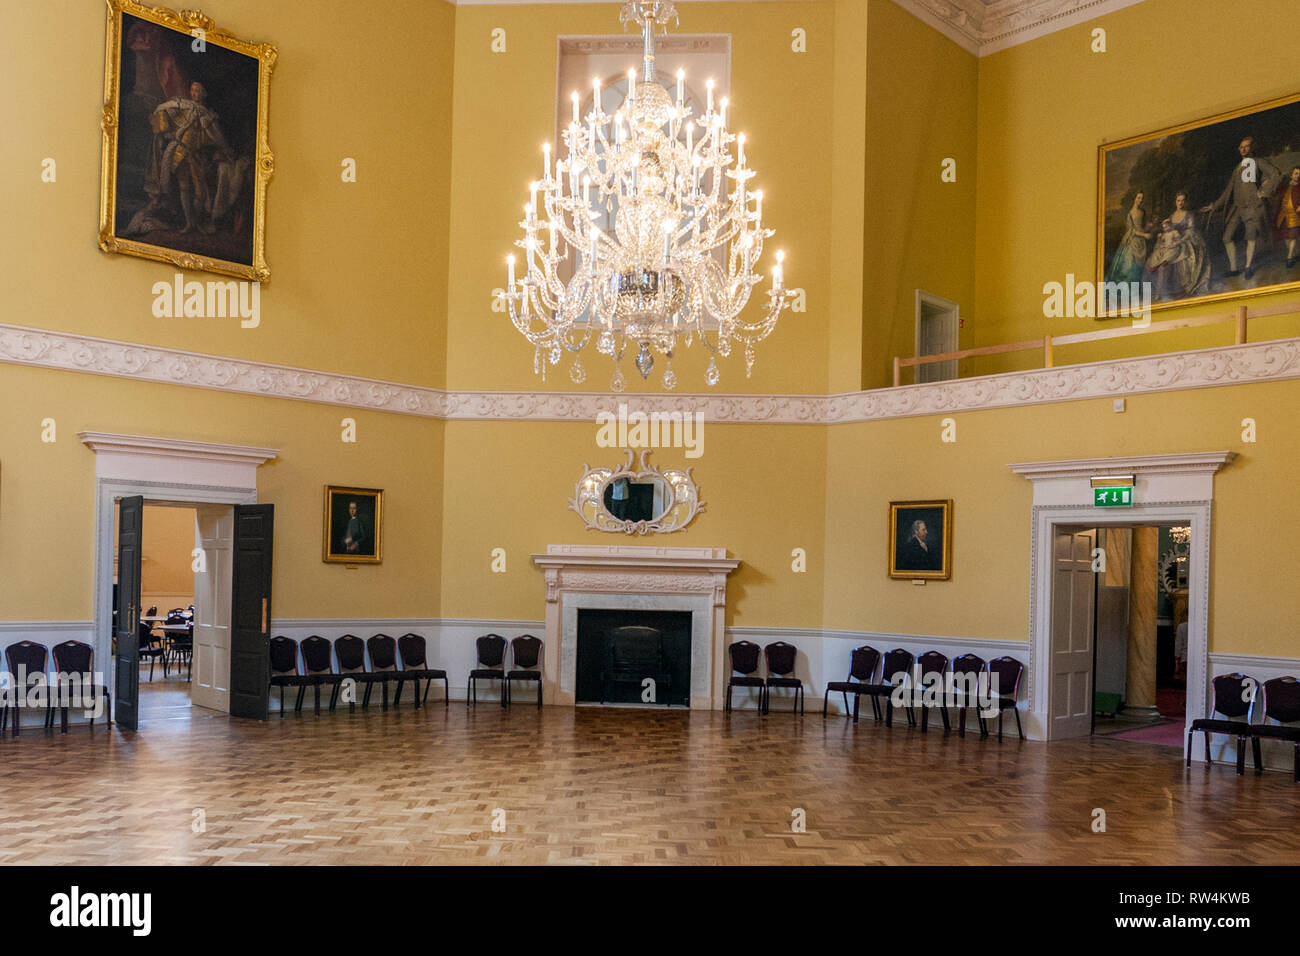
[[[1294,18],[1294,0],[1252,0],[1251,29],[1235,29],[1221,0],[1145,0],[980,60],[972,345],[1127,321],[1043,316],[1045,282],[1096,276],[1097,147],[1296,92],[1295,39],[1283,27]],[[1098,26],[1106,30],[1105,53],[1091,52]],[[1240,302],[1164,310],[1153,319],[1223,312]],[[1252,338],[1295,334],[1295,316],[1252,324]],[[1057,362],[1231,342],[1232,326],[1223,325],[1069,346]],[[967,363],[963,373],[974,375],[1040,367],[1041,355]]]

